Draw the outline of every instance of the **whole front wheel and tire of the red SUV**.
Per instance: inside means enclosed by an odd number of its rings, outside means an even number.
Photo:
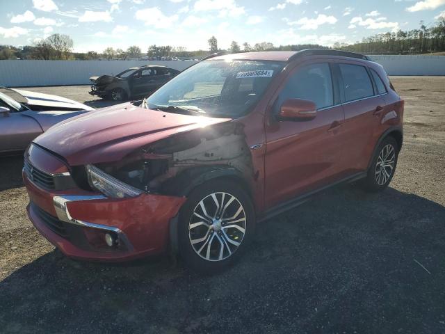
[[[181,208],[179,255],[195,271],[221,271],[241,257],[254,225],[248,194],[230,180],[211,180],[194,189]]]

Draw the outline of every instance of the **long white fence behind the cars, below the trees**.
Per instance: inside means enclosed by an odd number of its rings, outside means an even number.
[[[445,75],[445,56],[370,56],[389,75]],[[90,84],[89,77],[118,74],[129,67],[165,65],[184,70],[195,61],[0,61],[0,86]]]

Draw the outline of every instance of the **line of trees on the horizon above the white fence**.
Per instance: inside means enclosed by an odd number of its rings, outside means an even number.
[[[445,18],[439,18],[439,21],[429,28],[421,22],[420,29],[410,31],[394,31],[379,33],[363,38],[360,42],[348,45],[344,43],[335,43],[333,49],[346,51],[356,51],[362,54],[428,54],[432,52],[445,51]],[[187,51],[185,47],[172,47],[170,45],[150,45],[146,51],[143,51],[137,45],[124,49],[113,49],[107,47],[102,53],[97,51],[88,51],[85,53],[73,52],[74,43],[70,36],[55,33],[39,40],[34,45],[24,46],[22,48],[10,45],[0,45],[1,59],[44,59],[44,60],[92,60],[92,59],[176,59],[192,58],[200,59],[209,53],[216,51],[299,51],[309,48],[327,48],[323,45],[280,45],[275,47],[271,42],[259,42],[250,45],[243,42],[239,45],[235,40],[232,41],[229,49],[224,50],[218,47],[218,40],[211,36],[207,40],[209,49]]]

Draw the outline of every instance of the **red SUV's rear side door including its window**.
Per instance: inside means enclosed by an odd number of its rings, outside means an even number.
[[[385,100],[363,63],[341,61],[334,65],[339,74],[345,122],[343,131],[348,140],[342,159],[346,174],[366,170],[373,150],[373,135],[379,127],[379,113]]]

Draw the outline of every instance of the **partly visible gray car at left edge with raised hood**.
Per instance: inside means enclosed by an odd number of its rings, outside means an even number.
[[[58,122],[95,109],[56,95],[0,88],[0,154],[26,149]]]

